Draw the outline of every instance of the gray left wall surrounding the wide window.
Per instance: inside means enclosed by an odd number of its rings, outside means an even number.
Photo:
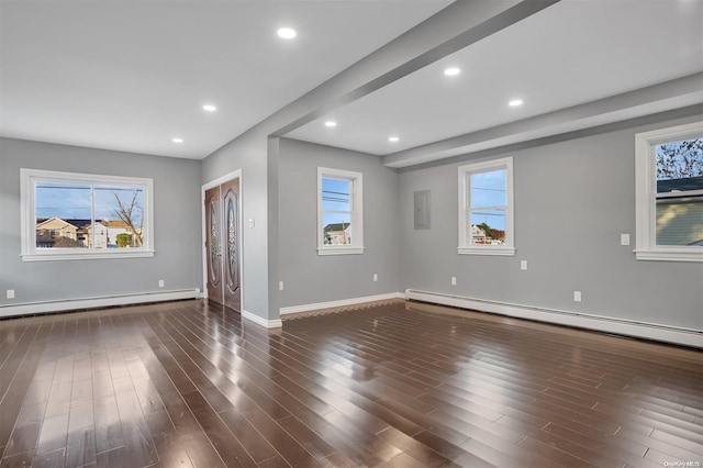
[[[21,167],[153,178],[156,254],[22,261]],[[0,304],[202,288],[200,179],[196,160],[0,138]],[[16,298],[5,299],[7,289]]]

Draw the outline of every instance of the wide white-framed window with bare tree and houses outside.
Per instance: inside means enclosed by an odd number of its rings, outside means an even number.
[[[22,259],[150,257],[152,179],[20,169]]]

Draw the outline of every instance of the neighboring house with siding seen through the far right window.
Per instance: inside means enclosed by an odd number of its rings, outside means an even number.
[[[703,245],[703,177],[657,180],[657,245]]]

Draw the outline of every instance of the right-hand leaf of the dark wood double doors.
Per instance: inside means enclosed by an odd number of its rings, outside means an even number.
[[[222,194],[222,269],[224,304],[239,310],[239,179],[220,186]]]

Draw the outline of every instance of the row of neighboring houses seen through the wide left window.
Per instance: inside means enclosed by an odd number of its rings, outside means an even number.
[[[37,220],[36,246],[38,248],[114,248],[118,235],[131,234],[123,221],[77,220],[51,218]],[[134,239],[134,235],[132,235]],[[134,245],[134,243],[132,243]]]

